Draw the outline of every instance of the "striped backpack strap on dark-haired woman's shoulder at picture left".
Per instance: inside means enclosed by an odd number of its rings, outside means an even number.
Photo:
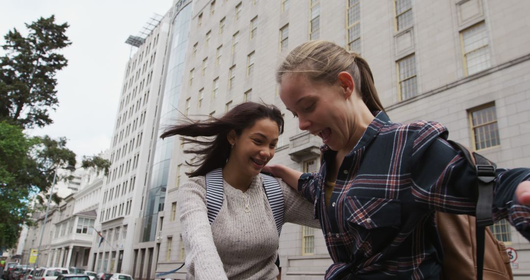
[[[208,221],[215,221],[223,206],[223,169],[215,169],[206,174],[206,208]]]

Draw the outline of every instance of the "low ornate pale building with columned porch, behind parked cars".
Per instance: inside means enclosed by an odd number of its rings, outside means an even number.
[[[63,175],[67,173],[63,172]],[[87,268],[96,211],[101,197],[103,172],[80,170],[73,173],[78,190],[64,198],[59,205],[50,207],[42,235],[39,266]],[[71,186],[67,183],[64,186]],[[42,224],[46,213],[34,213],[36,226],[29,227],[23,241],[22,264],[28,264],[31,249],[38,249]]]

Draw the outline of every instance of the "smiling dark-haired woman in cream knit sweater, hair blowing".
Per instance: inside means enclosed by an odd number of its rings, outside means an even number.
[[[278,108],[245,102],[220,118],[188,121],[162,134],[182,135],[184,143],[197,144],[184,151],[199,156],[191,164],[198,169],[187,173],[190,180],[179,187],[177,199],[188,279],[276,279],[281,224],[319,227],[313,205],[281,180],[284,209],[278,222],[263,188],[260,171],[274,156],[283,129]],[[215,172],[222,173],[223,194],[212,218],[206,177]]]

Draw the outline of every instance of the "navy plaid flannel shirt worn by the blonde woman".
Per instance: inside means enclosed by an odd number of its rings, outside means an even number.
[[[395,124],[378,112],[346,156],[326,206],[324,182],[336,152],[323,145],[320,171],[298,191],[314,203],[334,262],[326,279],[438,279],[441,244],[435,211],[475,213],[476,175],[438,123]],[[530,207],[515,202],[530,170],[497,169],[493,218],[508,218],[530,239]]]

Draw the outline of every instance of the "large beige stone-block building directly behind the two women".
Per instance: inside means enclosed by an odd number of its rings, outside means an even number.
[[[366,58],[393,121],[439,121],[450,139],[499,167],[528,167],[529,8],[527,2],[491,0],[193,1],[178,108],[192,118],[218,116],[244,101],[283,110],[276,67],[300,43],[325,39]],[[272,162],[315,171],[320,143],[287,113]],[[194,159],[183,148],[174,139],[160,272],[180,266],[185,255],[174,190],[190,170],[185,161]],[[518,253],[516,278],[530,275],[528,242],[506,221],[493,231]],[[331,264],[321,232],[298,225],[284,226],[279,254],[285,279],[321,279]]]

